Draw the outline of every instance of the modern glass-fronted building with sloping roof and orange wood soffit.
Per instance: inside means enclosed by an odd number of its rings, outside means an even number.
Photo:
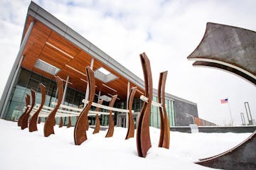
[[[1,118],[18,120],[26,106],[26,94],[30,94],[31,89],[36,91],[36,103],[41,103],[40,84],[46,86],[45,105],[52,106],[58,96],[57,76],[63,79],[65,86],[62,103],[82,108],[82,100],[87,95],[87,66],[95,72],[95,102],[103,99],[103,105],[108,105],[111,97],[117,94],[114,107],[127,108],[129,89],[137,86],[132,104],[136,124],[143,104],[140,96],[144,94],[144,81],[41,6],[31,2],[21,46],[1,96]],[[165,98],[170,126],[195,123],[195,118],[198,118],[196,103],[168,93]],[[157,101],[156,89],[153,90],[153,100]],[[73,125],[75,121],[73,118]],[[95,125],[95,116],[90,116],[89,123]],[[100,123],[108,125],[108,115],[100,115]],[[127,126],[127,114],[114,112],[114,125]],[[151,106],[150,125],[160,127],[159,108],[156,106]]]

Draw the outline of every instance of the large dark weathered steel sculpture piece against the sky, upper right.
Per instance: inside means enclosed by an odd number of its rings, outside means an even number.
[[[196,50],[187,58],[193,66],[215,67],[237,74],[256,86],[256,32],[207,23]]]

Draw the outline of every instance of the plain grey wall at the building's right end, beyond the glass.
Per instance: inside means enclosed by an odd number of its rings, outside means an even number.
[[[186,126],[193,124],[193,118],[186,116],[186,114],[198,117],[198,109],[196,105],[192,103],[186,103],[184,101],[174,101],[174,112],[175,112],[175,125]]]

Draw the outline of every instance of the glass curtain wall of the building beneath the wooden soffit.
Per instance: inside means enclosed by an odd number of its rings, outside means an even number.
[[[27,69],[21,69],[20,75],[16,82],[16,86],[11,92],[11,99],[9,101],[8,109],[6,111],[6,120],[18,120],[18,118],[23,113],[24,108],[26,107],[26,94],[31,95],[31,89],[36,91],[36,103],[41,103],[41,91],[39,84],[44,84],[46,86],[46,106],[54,107],[51,105],[53,101],[57,101],[57,85],[55,81],[47,79],[46,77],[42,77],[39,74],[28,71]],[[65,84],[64,84],[65,86]],[[85,87],[86,88],[86,87]],[[68,88],[66,91],[64,104],[67,106],[72,106],[75,108],[83,108],[82,99],[85,98],[85,94],[76,91],[75,89]],[[95,95],[94,102],[97,103],[97,95]],[[157,97],[153,96],[153,101],[157,102]],[[103,105],[108,106],[109,102],[104,101]],[[134,102],[132,104],[132,109],[134,112],[140,112],[142,108],[143,102],[140,98],[134,98]],[[116,108],[126,108],[127,101],[116,101],[114,107]],[[95,107],[91,108],[95,110]],[[107,112],[105,109],[100,109],[101,112]],[[175,125],[175,113],[174,113],[174,101],[170,99],[166,99],[166,112],[169,116],[170,126]],[[117,114],[114,114],[114,125],[117,123]],[[108,115],[100,115],[100,123],[103,126],[108,125]],[[72,117],[71,124],[75,125],[76,117]],[[41,120],[44,121],[43,118]],[[63,118],[64,124],[68,125],[68,118]],[[56,123],[59,123],[59,119],[56,119]],[[95,125],[95,116],[90,116],[89,118],[90,125]],[[159,108],[156,106],[151,106],[151,115],[150,115],[150,125],[155,128],[160,128],[160,115]]]

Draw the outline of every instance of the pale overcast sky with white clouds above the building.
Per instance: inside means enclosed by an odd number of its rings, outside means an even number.
[[[168,71],[166,92],[198,104],[200,118],[236,125],[250,103],[256,118],[256,86],[218,69],[192,67],[206,23],[256,30],[256,1],[35,1],[143,79],[139,54],[151,61],[154,88],[159,72]],[[14,64],[30,1],[0,1],[0,95]]]

